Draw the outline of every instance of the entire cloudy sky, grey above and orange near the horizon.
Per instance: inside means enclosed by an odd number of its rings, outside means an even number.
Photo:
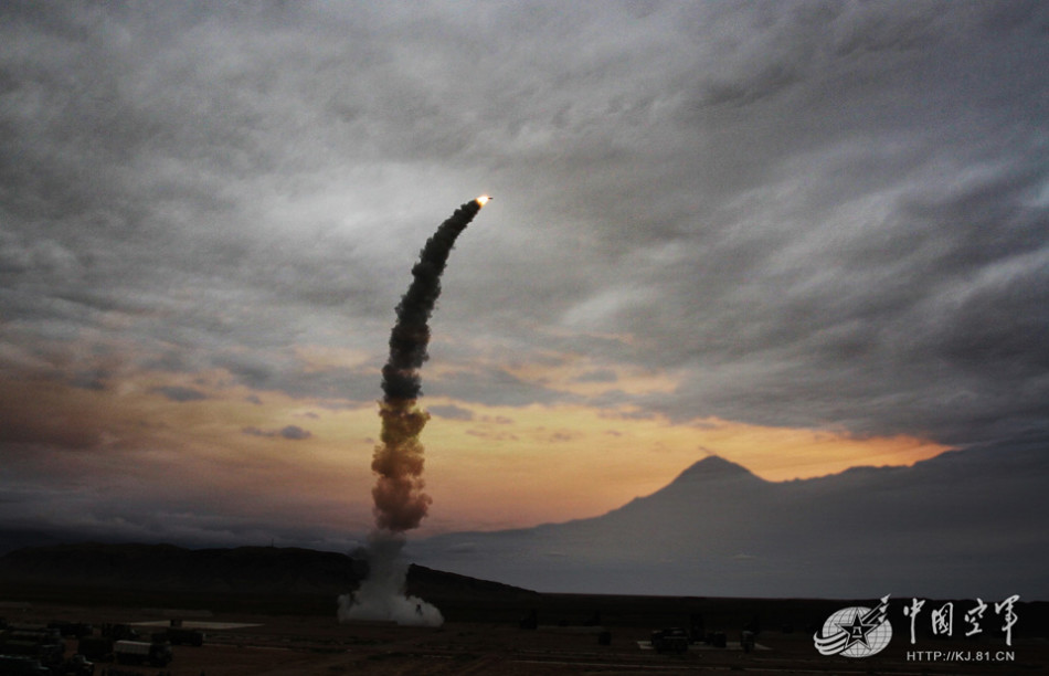
[[[365,530],[484,192],[425,529],[1045,445],[1046,63],[1041,2],[3,2],[0,525]]]

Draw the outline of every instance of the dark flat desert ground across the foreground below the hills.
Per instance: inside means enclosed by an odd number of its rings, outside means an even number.
[[[812,640],[810,626],[787,617],[818,621],[834,601],[761,601],[631,596],[536,595],[530,608],[449,610],[441,627],[404,627],[384,623],[339,624],[335,604],[328,614],[259,613],[244,610],[165,610],[93,603],[2,602],[8,623],[54,621],[136,626],[145,636],[171,620],[205,632],[204,645],[173,646],[165,667],[129,667],[97,663],[95,674],[155,676],[259,676],[338,674],[1040,674],[1049,664],[1049,645],[1038,636],[1014,637],[1006,647],[1000,636],[977,641],[933,641],[908,645],[908,629],[878,655],[866,658],[825,657]],[[522,614],[536,611],[538,626],[521,629]],[[763,620],[756,613],[764,611]],[[709,630],[723,630],[727,647],[693,644],[685,654],[646,649],[655,629],[685,626],[701,613]],[[740,646],[742,622],[762,622],[757,645]],[[721,626],[721,625],[724,626]],[[96,630],[97,631],[97,630]],[[602,634],[604,641],[602,641]],[[67,654],[76,640],[67,638]],[[953,658],[908,656],[909,651],[953,652]],[[968,661],[957,658],[957,653]],[[992,662],[987,662],[986,657]]]

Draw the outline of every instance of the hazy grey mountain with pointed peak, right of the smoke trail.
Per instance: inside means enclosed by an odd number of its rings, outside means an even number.
[[[426,566],[549,592],[1049,599],[1040,451],[771,483],[720,457],[603,516],[412,541]]]

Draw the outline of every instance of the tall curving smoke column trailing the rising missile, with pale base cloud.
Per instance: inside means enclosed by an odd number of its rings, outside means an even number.
[[[441,274],[448,254],[480,208],[481,196],[459,207],[437,228],[412,268],[412,284],[396,308],[390,332],[390,358],[382,368],[383,399],[379,404],[382,432],[371,468],[378,475],[372,488],[375,531],[364,556],[369,577],[352,594],[339,596],[339,620],[392,620],[399,624],[441,625],[444,619],[431,604],[404,595],[407,567],[400,560],[403,534],[418,528],[430,508],[423,493],[423,445],[418,441],[430,415],[418,409],[422,394],[420,368],[426,361],[430,317],[441,295]]]

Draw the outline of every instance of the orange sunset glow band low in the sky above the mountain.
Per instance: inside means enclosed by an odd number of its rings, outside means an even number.
[[[321,362],[338,355],[301,351]],[[189,490],[203,477],[210,499],[231,505],[251,504],[259,499],[261,485],[278,484],[279,501],[298,505],[303,517],[309,511],[309,518],[331,527],[362,528],[377,406],[252,392],[229,381],[218,371],[181,381],[201,393],[183,402],[160,393],[168,381],[156,373],[129,377],[104,391],[47,380],[3,381],[0,422],[8,439],[89,450],[100,468],[133,462],[142,471],[186,477]],[[438,508],[422,534],[594,516],[657,490],[707,455],[780,482],[854,465],[910,465],[946,450],[902,435],[860,439],[717,419],[676,424],[635,415],[629,408],[485,406],[446,398],[425,404],[438,411],[455,406],[469,418],[437,414],[426,427],[427,492]],[[50,412],[46,426],[31,414],[40,406]],[[345,513],[312,511],[317,505],[342,505]]]

